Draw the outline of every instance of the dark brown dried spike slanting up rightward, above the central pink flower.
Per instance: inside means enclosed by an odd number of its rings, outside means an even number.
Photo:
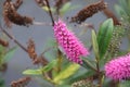
[[[92,3],[80,10],[74,17],[72,17],[70,22],[76,22],[80,24],[81,22],[84,22],[88,17],[91,17],[93,14],[98,13],[99,11],[104,10],[106,7],[107,4],[103,0],[96,3]]]

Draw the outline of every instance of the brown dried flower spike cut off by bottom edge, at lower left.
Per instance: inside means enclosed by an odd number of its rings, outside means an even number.
[[[31,80],[30,77],[23,77],[18,80],[14,80],[11,83],[11,87],[26,87],[26,85]]]

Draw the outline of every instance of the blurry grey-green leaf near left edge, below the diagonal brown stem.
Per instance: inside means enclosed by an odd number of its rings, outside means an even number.
[[[17,47],[13,47],[12,49],[10,49],[6,53],[5,57],[3,59],[4,62],[8,62],[12,59],[12,57],[14,55],[15,51],[17,50]]]

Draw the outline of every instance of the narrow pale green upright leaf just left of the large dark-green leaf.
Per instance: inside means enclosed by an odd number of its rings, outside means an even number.
[[[99,57],[100,57],[99,55],[99,45],[98,45],[96,34],[93,29],[92,29],[92,46],[93,46],[95,58],[99,59]]]

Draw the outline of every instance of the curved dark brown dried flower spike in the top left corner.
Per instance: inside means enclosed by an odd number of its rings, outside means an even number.
[[[16,8],[18,5],[14,5],[11,1],[5,1],[3,4],[3,16],[8,27],[11,27],[11,23],[16,25],[28,26],[32,24],[32,18],[29,16],[22,16],[20,13],[16,12]]]

